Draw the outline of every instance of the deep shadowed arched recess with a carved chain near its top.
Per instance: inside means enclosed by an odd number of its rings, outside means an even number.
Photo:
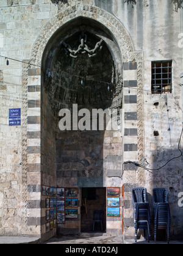
[[[122,136],[122,63],[111,33],[84,17],[59,29],[43,53],[43,177],[54,177],[59,188],[79,189],[77,228],[66,218],[66,207],[65,223],[57,225],[59,234],[91,232],[94,210],[104,212],[106,232],[106,186],[123,159],[117,141]],[[118,176],[114,186],[121,188],[121,168]]]

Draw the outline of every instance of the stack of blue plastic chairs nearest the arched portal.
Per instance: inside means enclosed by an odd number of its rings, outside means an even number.
[[[151,216],[149,210],[149,203],[147,199],[146,188],[133,188],[132,189],[132,203],[133,203],[133,214],[134,214],[134,227],[135,227],[135,243],[137,243],[137,231],[138,229],[143,229],[144,239],[145,231],[148,235],[148,243],[150,237],[150,226],[151,226]]]

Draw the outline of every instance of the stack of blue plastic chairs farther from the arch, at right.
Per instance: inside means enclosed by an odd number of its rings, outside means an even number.
[[[156,243],[157,230],[167,231],[167,242],[170,241],[170,207],[168,203],[168,190],[154,188],[152,191],[152,205],[154,212],[154,242]]]

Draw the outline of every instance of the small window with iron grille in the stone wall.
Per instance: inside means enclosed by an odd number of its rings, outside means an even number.
[[[172,60],[152,61],[152,93],[172,92]]]

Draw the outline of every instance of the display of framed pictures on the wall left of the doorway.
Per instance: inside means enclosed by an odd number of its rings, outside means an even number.
[[[46,233],[65,224],[66,220],[78,218],[77,188],[52,188],[42,186],[46,196]]]

